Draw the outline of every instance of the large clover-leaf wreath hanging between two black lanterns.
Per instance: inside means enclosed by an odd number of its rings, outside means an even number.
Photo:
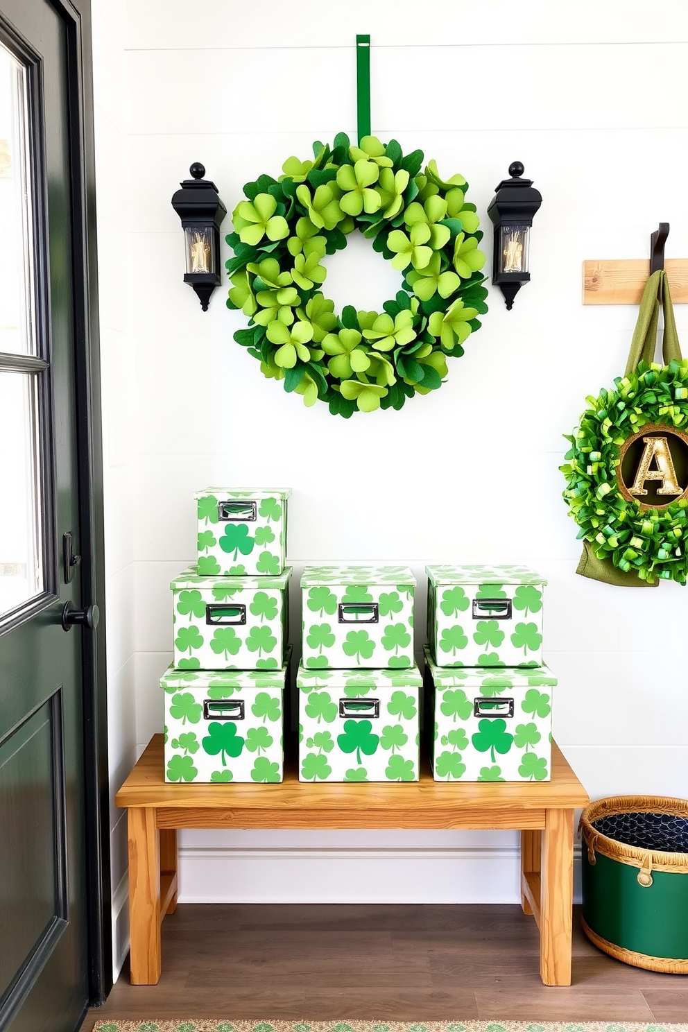
[[[313,150],[313,161],[289,158],[279,181],[248,183],[234,209],[227,305],[251,327],[234,340],[307,406],[320,398],[346,419],[400,409],[441,385],[447,357],[463,354],[487,312],[476,205],[463,176],[443,181],[434,161],[421,172],[423,152],[404,157],[396,140],[354,147],[339,133]],[[356,228],[403,273],[403,290],[383,313],[337,316],[320,262]]]

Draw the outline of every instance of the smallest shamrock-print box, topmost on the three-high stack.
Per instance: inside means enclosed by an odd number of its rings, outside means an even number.
[[[201,577],[275,577],[285,569],[291,490],[206,487],[196,491]]]

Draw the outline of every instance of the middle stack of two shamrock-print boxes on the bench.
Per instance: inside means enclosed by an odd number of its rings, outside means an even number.
[[[417,781],[420,688],[407,567],[305,567],[299,780]]]

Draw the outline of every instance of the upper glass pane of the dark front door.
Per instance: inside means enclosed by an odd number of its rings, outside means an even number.
[[[26,69],[0,43],[0,352],[36,354]]]

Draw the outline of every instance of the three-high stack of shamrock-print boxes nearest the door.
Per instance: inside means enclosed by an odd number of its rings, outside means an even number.
[[[198,563],[170,583],[165,780],[282,781],[288,490],[198,492]]]

